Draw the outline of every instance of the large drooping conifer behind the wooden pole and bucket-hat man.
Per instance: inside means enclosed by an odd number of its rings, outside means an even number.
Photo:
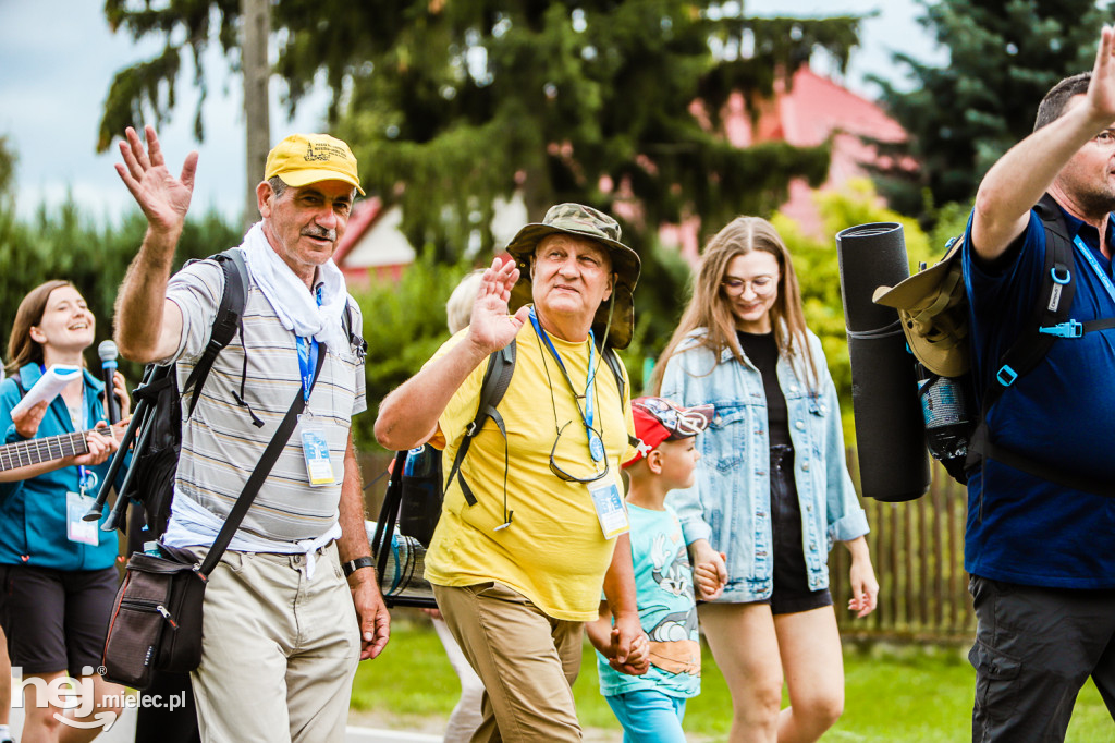
[[[413,244],[454,262],[469,240],[494,247],[494,200],[521,185],[532,218],[559,201],[622,202],[628,232],[643,235],[689,214],[769,213],[792,177],[820,183],[827,146],[738,149],[719,112],[735,91],[760,100],[818,47],[842,64],[859,19],[758,19],[740,6],[278,0],[272,27],[290,105],[324,79],[330,126],[365,163],[369,193],[401,202]],[[202,51],[215,37],[235,59],[239,12],[233,0],[108,0],[113,28],[165,46],[116,76],[100,146],[171,110],[186,51],[204,98]]]

